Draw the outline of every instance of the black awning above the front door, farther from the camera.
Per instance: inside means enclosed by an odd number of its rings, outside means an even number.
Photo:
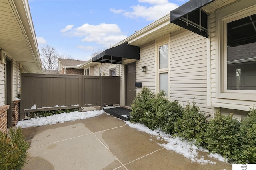
[[[102,53],[92,58],[94,62],[122,64],[122,58],[140,59],[140,47],[128,45],[124,43],[110,49],[106,49]]]

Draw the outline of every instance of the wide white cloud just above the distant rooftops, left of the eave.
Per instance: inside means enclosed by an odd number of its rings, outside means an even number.
[[[101,23],[100,25],[85,23],[80,27],[66,31],[64,35],[83,37],[81,39],[83,42],[95,42],[101,45],[114,45],[127,37],[121,32],[118,25],[106,23]]]

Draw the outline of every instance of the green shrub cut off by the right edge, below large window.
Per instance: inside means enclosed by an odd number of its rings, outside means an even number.
[[[253,106],[241,121],[239,131],[241,147],[236,150],[234,160],[238,163],[256,163],[256,108]]]

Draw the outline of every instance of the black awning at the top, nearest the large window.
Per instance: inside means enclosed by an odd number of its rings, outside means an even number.
[[[170,22],[208,38],[208,13],[201,8],[215,0],[190,0],[170,12]]]

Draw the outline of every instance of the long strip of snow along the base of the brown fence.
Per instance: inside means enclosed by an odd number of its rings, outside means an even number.
[[[36,127],[36,126],[43,126],[43,125],[52,125],[56,123],[64,123],[67,121],[87,119],[90,117],[101,115],[103,113],[104,113],[103,110],[94,110],[94,111],[86,111],[86,112],[74,111],[70,113],[60,113],[58,115],[52,115],[52,116],[40,117],[40,118],[37,117],[37,118],[32,118],[30,120],[18,121],[16,126],[21,128],[26,128],[26,127]]]

